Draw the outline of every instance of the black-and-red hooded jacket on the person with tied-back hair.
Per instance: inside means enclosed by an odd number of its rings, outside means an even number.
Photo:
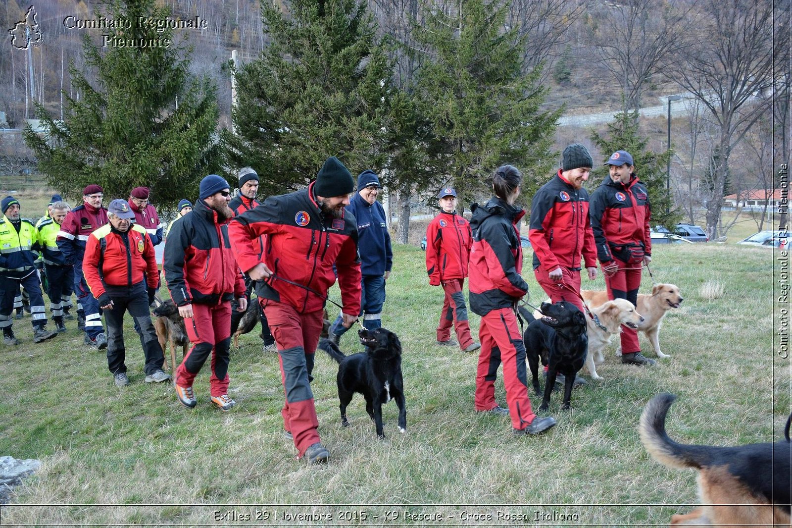
[[[470,206],[473,246],[470,248],[470,309],[479,316],[511,307],[528,293],[523,248],[516,224],[524,209],[493,197],[485,205]]]

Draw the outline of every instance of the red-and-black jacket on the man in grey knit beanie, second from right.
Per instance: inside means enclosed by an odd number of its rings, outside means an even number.
[[[580,270],[581,253],[585,267],[595,267],[594,235],[588,220],[588,191],[575,189],[558,170],[556,177],[534,195],[528,238],[534,249],[534,269],[542,266],[549,272],[561,266]]]

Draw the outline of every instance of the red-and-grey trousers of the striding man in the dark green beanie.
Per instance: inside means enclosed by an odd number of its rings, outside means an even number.
[[[280,411],[284,430],[291,432],[297,453],[303,457],[305,450],[319,442],[310,373],[314,371],[314,354],[322,333],[323,311],[299,313],[290,304],[267,299],[264,312],[280,356],[280,377],[286,393]]]

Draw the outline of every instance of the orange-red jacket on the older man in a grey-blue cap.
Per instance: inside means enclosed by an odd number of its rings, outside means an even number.
[[[116,231],[111,224],[93,231],[82,258],[82,274],[96,299],[105,293],[105,285],[135,285],[143,281],[144,274],[150,288],[159,286],[154,246],[146,230],[137,224],[131,224],[126,233]]]

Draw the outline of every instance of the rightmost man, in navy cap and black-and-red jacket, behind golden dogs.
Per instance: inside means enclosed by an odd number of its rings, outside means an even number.
[[[649,193],[635,175],[633,156],[615,151],[607,159],[609,176],[592,194],[591,224],[597,258],[605,274],[608,299],[638,304],[638,288],[644,264],[652,262]],[[638,331],[622,327],[622,362],[653,365],[638,345]]]

